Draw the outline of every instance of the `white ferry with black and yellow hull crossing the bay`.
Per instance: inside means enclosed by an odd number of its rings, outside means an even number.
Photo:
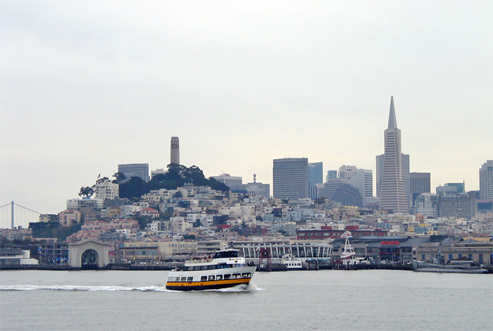
[[[183,270],[171,270],[166,289],[192,291],[249,285],[255,270],[255,266],[247,266],[245,259],[238,256],[237,249],[225,249],[210,258],[186,261]]]

